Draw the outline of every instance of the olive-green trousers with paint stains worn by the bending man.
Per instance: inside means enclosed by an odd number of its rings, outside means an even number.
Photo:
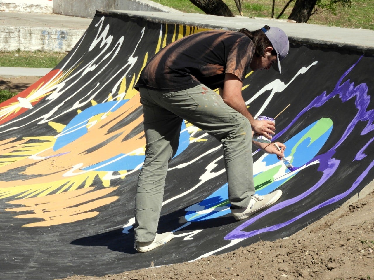
[[[140,88],[140,102],[147,144],[135,196],[136,241],[155,237],[168,163],[177,152],[183,119],[222,143],[230,203],[234,208],[248,206],[255,193],[248,119],[205,85],[171,93]]]

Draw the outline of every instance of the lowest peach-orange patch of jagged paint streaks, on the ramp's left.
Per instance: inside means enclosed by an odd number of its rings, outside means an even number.
[[[15,218],[40,219],[42,221],[25,224],[22,227],[49,227],[51,225],[73,223],[99,214],[92,211],[118,199],[118,196],[104,197],[118,187],[94,191],[95,187],[79,189],[45,197],[34,197],[10,201],[10,204],[22,204],[25,207],[8,208],[5,211],[33,212],[17,215]],[[103,197],[103,198],[100,198]]]

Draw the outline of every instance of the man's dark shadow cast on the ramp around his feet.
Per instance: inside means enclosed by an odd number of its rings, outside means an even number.
[[[160,217],[159,226],[157,233],[163,233],[167,231],[174,231],[177,228],[182,227],[187,221],[184,218],[186,207],[179,209],[178,211],[171,212],[169,214]],[[125,219],[124,219],[125,221]],[[190,233],[195,230],[203,230],[207,228],[220,228],[224,225],[235,223],[235,219],[231,215],[225,215],[222,217],[194,221],[184,228],[178,230],[175,234]],[[86,236],[72,241],[72,245],[80,246],[106,246],[112,251],[135,254],[137,251],[134,249],[134,225],[128,230],[128,233],[123,233],[123,228],[117,228],[115,230],[107,231],[92,236]],[[210,238],[212,236],[210,235]]]

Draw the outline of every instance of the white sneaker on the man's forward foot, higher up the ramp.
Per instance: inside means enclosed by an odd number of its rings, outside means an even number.
[[[248,218],[249,216],[261,211],[264,208],[274,204],[282,195],[281,190],[269,193],[268,195],[253,195],[246,208],[232,209],[231,212],[237,221]]]

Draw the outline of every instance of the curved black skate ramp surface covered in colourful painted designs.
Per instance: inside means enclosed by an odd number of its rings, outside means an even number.
[[[103,276],[191,261],[295,233],[373,180],[374,58],[293,44],[284,74],[249,73],[253,115],[276,116],[290,172],[254,153],[257,192],[281,199],[248,220],[230,215],[221,144],[185,123],[169,164],[159,231],[175,238],[133,248],[134,196],[144,160],[134,84],[163,46],[205,30],[98,11],[45,77],[0,105],[0,273],[3,279]]]

